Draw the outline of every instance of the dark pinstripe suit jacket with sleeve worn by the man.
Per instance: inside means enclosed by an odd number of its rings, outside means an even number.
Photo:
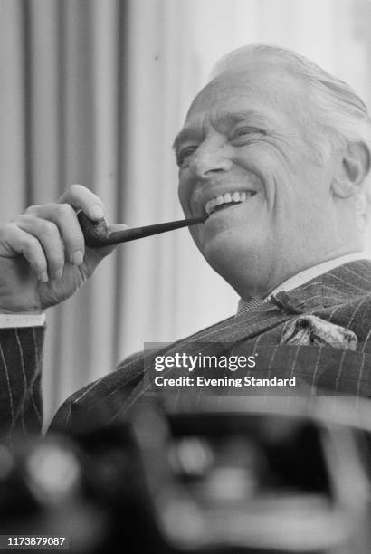
[[[351,330],[356,349],[285,343],[288,325],[302,315]],[[43,329],[1,330],[0,345],[3,433],[38,430]],[[216,354],[226,348],[231,351],[231,345],[238,345],[240,353],[243,348],[246,356],[258,354],[255,377],[295,376],[314,393],[371,396],[371,261],[346,263],[251,311],[179,340],[162,353]],[[64,402],[52,427],[69,429],[87,421],[97,425],[124,414],[146,396],[143,375],[152,358],[152,353],[128,358],[113,373],[76,392]]]

